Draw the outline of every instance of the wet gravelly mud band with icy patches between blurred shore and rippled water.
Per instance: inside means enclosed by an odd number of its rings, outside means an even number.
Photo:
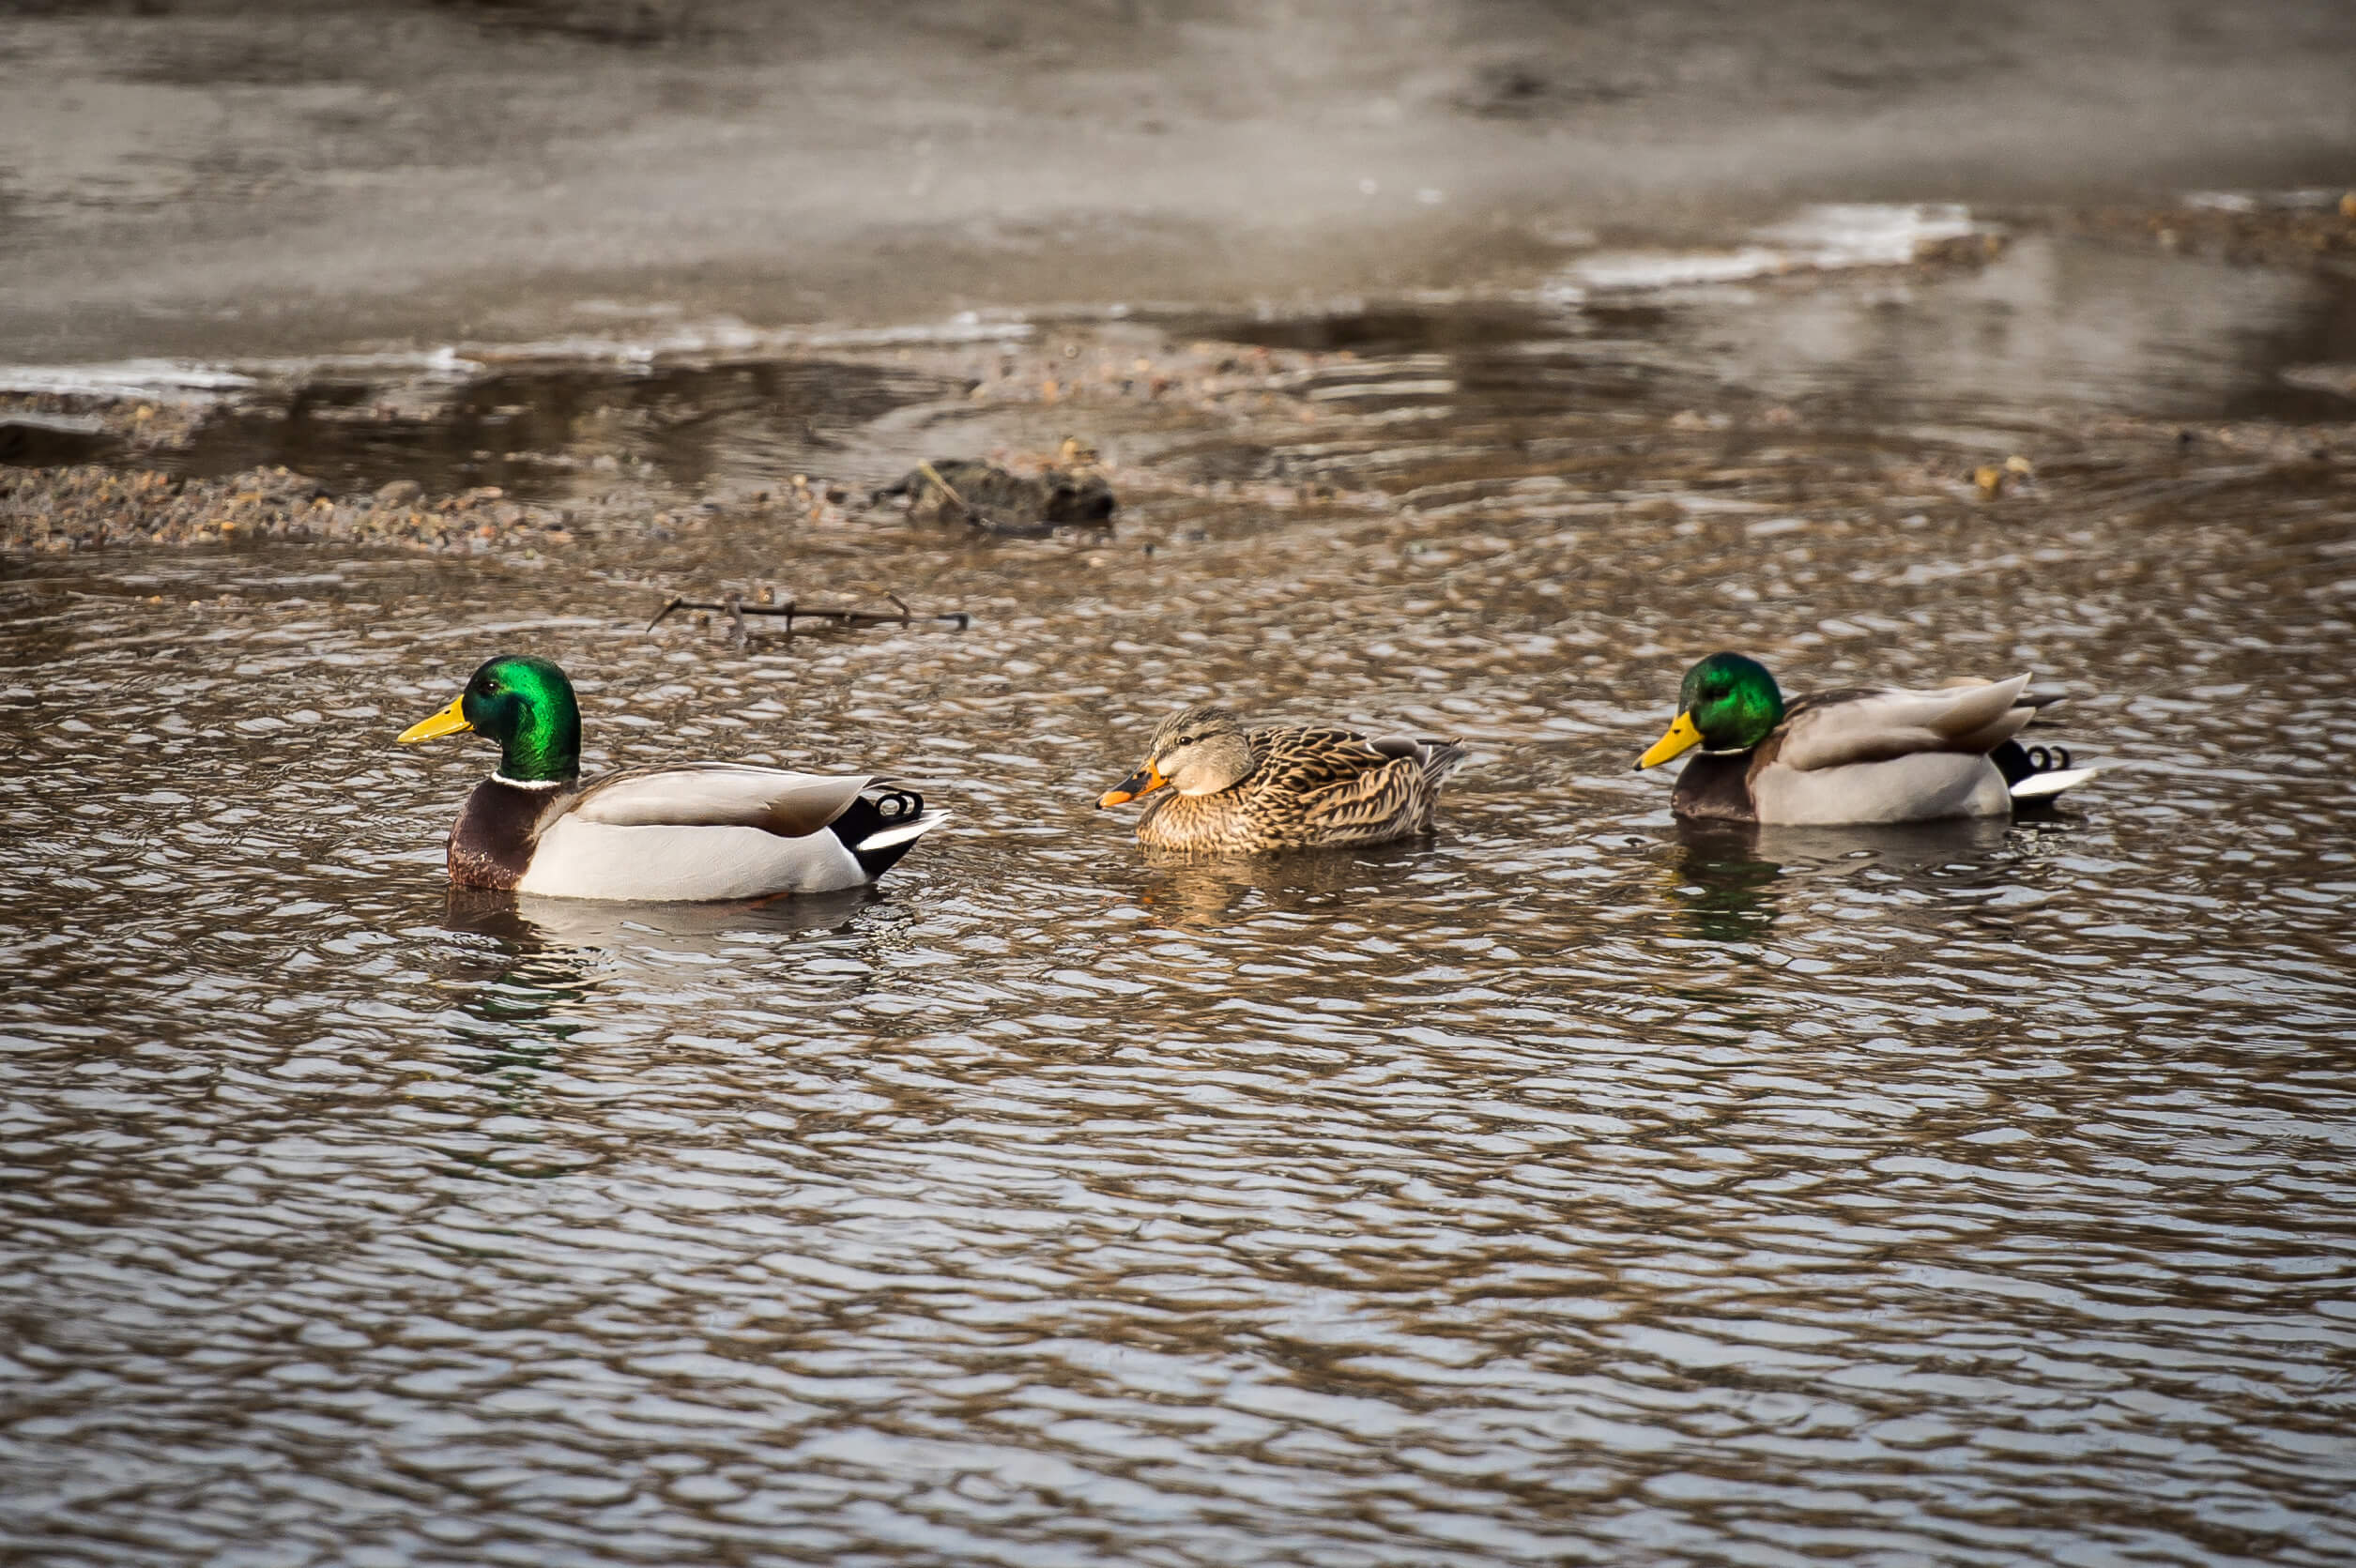
[[[2165,487],[2226,457],[2259,464],[2233,483],[2304,490],[2356,419],[2351,257],[2356,195],[2335,193],[2003,221],[1838,207],[1732,247],[1597,252],[1548,290],[1317,313],[21,372],[0,391],[0,549],[855,537],[926,527],[867,501],[916,461],[1037,473],[1067,445],[1121,497],[1117,527],[1164,501],[1272,518],[1517,483],[1640,504],[1739,483],[1762,445],[1819,483],[1864,452],[1859,494],[1960,504],[2043,494],[2071,464]],[[1548,419],[1536,457],[1531,438],[1366,457]],[[1564,440],[1588,443],[1569,469]]]

